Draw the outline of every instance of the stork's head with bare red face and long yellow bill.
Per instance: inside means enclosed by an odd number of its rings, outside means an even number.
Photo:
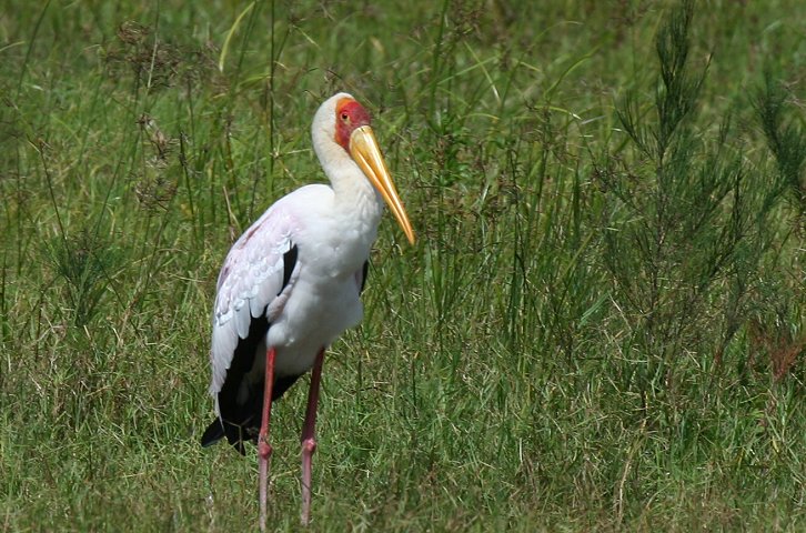
[[[344,150],[381,193],[409,242],[413,244],[414,230],[397,195],[370,122],[366,109],[350,94],[340,92],[328,99],[316,111],[313,121],[314,148],[323,162],[328,159],[323,152],[329,149]]]

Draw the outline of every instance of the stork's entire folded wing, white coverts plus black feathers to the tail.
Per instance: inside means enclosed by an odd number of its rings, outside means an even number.
[[[299,278],[295,239],[305,221],[316,219],[316,207],[326,205],[333,190],[308,185],[283,197],[232,245],[218,281],[213,309],[210,393],[216,420],[204,431],[202,445],[226,436],[241,453],[254,436],[263,404],[262,375],[250,376],[255,352],[271,324],[280,316]],[[302,238],[304,240],[304,238]],[[298,376],[280,376],[274,399]]]

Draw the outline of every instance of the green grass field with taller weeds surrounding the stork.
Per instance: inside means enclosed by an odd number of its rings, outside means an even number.
[[[803,531],[806,10],[532,3],[3,2],[0,529],[256,529],[215,278],[345,90],[419,242],[325,360],[311,530]]]

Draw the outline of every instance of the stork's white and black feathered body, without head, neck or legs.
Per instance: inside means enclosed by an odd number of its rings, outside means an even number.
[[[260,428],[266,348],[276,350],[278,399],[311,370],[322,346],[361,321],[359,295],[383,209],[369,189],[361,201],[376,213],[357,223],[339,215],[330,187],[298,189],[252,224],[224,261],[213,315],[210,392],[221,419],[240,425],[226,434],[241,451],[239,441],[255,439]],[[240,372],[230,371],[234,355],[241,358],[234,361]],[[204,443],[223,436],[221,430],[213,422]]]

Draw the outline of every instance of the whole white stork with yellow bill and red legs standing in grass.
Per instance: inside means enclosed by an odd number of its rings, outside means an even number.
[[[366,109],[340,92],[316,110],[314,152],[330,184],[308,184],[272,204],[230,249],[216,283],[210,348],[215,419],[201,438],[244,454],[258,445],[260,527],[265,531],[272,402],[311,371],[302,428],[302,510],[311,511],[311,463],[324,351],[362,319],[371,248],[389,205],[415,237]]]

